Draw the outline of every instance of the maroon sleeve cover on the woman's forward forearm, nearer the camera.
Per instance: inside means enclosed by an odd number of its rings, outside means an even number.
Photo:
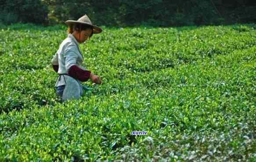
[[[87,81],[90,78],[90,71],[88,70],[83,70],[76,65],[73,65],[69,68],[68,74],[71,77],[74,77],[75,79],[79,81]]]

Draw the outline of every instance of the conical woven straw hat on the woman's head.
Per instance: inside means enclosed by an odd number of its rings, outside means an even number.
[[[102,29],[97,27],[96,25],[92,25],[90,18],[85,14],[83,15],[81,18],[79,18],[77,21],[75,20],[68,20],[68,21],[64,21],[64,23],[68,26],[72,25],[72,24],[83,24],[83,25],[89,25],[93,28],[93,33],[94,34],[98,34],[101,33]]]

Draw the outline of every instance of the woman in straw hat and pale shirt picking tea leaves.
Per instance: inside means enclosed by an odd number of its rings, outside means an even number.
[[[84,59],[78,46],[78,43],[85,42],[93,34],[100,33],[101,28],[92,25],[87,15],[77,21],[65,21],[65,24],[69,26],[68,38],[61,43],[51,60],[54,70],[59,74],[54,87],[62,101],[79,99],[83,95],[81,82],[89,78],[92,82],[101,84],[100,77],[81,66]]]

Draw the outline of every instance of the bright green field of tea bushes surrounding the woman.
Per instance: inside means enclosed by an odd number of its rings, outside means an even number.
[[[66,26],[0,26],[1,162],[256,161],[256,24],[101,28],[61,102]]]

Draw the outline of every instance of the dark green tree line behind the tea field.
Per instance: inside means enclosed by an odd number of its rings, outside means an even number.
[[[97,25],[256,22],[252,0],[0,0],[0,23],[58,24],[88,14]]]

